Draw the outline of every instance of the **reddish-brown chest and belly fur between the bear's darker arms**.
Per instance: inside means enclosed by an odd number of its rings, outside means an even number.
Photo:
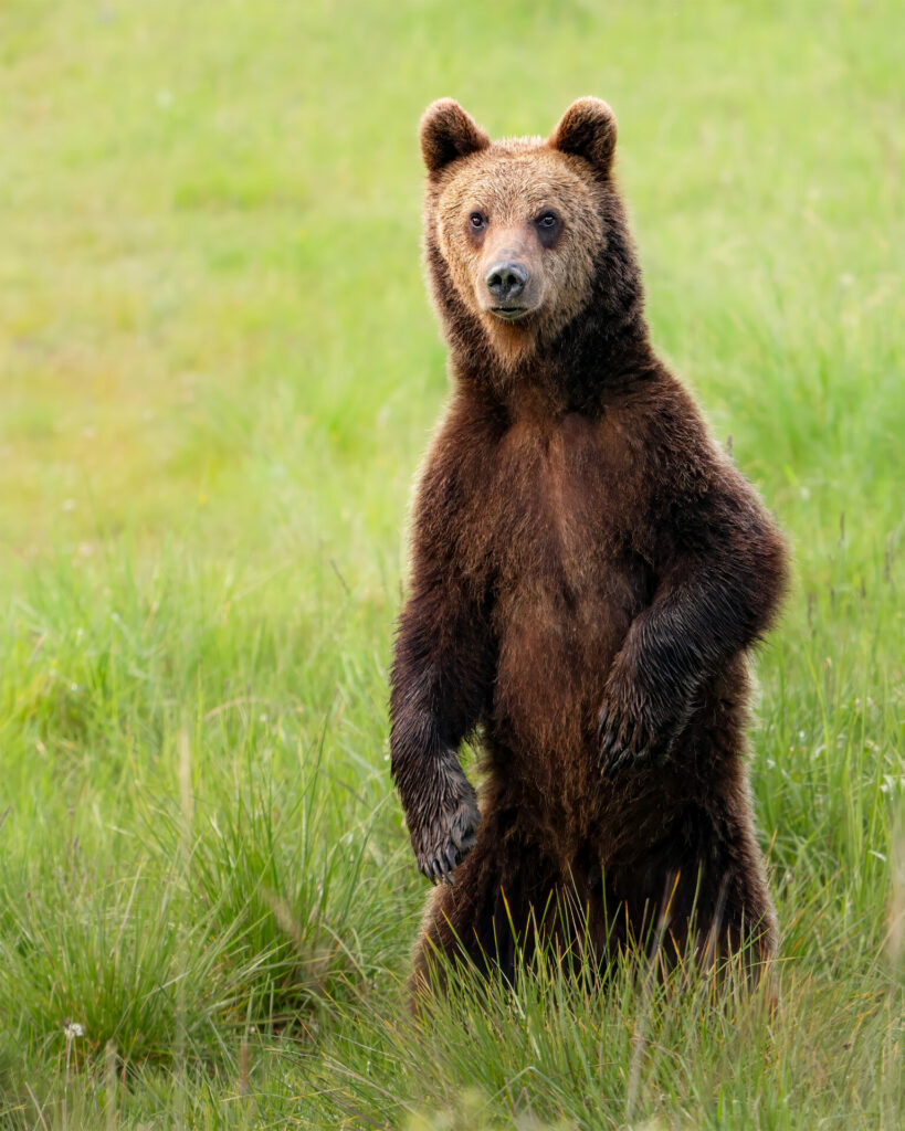
[[[495,581],[491,761],[566,811],[597,788],[606,679],[655,588],[628,544],[624,475],[597,433],[575,414],[546,432],[514,425],[482,544]]]

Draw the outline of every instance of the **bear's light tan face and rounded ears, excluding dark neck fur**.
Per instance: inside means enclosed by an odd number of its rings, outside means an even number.
[[[587,303],[606,241],[612,111],[583,98],[546,141],[491,143],[442,100],[422,119],[421,146],[429,257],[436,249],[458,301],[512,361]]]

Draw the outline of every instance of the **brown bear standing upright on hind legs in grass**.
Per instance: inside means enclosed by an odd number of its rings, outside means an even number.
[[[615,135],[596,98],[546,140],[491,143],[451,100],[421,121],[454,391],[391,671],[393,775],[439,883],[415,987],[436,952],[511,978],[552,936],[601,968],[654,933],[753,970],[776,946],[745,653],[784,543],[653,351]],[[457,756],[479,728],[480,806]]]

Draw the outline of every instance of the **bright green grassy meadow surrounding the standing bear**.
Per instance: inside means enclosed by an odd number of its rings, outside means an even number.
[[[903,42],[843,0],[5,0],[0,1126],[898,1131]],[[751,732],[779,1004],[538,972],[413,1031],[416,123],[591,93],[658,348],[793,546]]]

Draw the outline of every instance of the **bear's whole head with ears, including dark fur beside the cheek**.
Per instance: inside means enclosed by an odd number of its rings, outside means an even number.
[[[454,100],[428,107],[425,257],[454,353],[510,369],[567,334],[605,338],[640,317],[615,135],[598,98],[572,103],[546,139],[491,141]]]

